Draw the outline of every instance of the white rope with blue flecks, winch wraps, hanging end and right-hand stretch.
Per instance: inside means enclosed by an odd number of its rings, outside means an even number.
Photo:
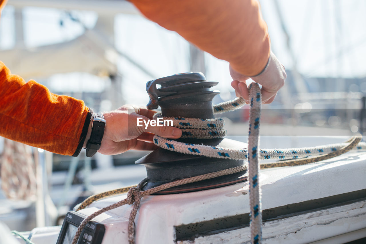
[[[257,244],[262,241],[262,212],[260,202],[259,187],[259,159],[291,159],[283,162],[262,164],[262,168],[281,167],[289,165],[300,165],[320,160],[333,158],[354,148],[366,149],[366,143],[360,143],[362,137],[356,136],[353,139],[341,144],[332,144],[318,147],[307,148],[288,148],[288,149],[259,149],[259,121],[261,113],[261,90],[257,83],[249,86],[250,97],[250,118],[249,118],[249,149],[231,149],[212,147],[208,145],[197,145],[181,143],[175,140],[154,136],[154,144],[161,148],[176,151],[184,154],[203,155],[214,158],[228,159],[248,159],[249,161],[249,185],[250,185],[250,218],[251,218],[251,243]],[[236,110],[245,104],[243,98],[236,98],[225,103],[214,106],[214,113],[219,114],[227,111]],[[155,117],[161,117],[156,114]],[[193,119],[193,118],[170,118],[173,126],[182,129],[182,138],[222,138],[226,131],[223,129],[223,119]],[[216,132],[216,133],[215,133]],[[319,156],[321,155],[321,156]],[[308,158],[309,156],[315,156]]]

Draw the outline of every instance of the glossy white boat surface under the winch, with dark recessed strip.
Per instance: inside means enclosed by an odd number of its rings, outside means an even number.
[[[365,175],[365,152],[261,170],[263,243],[344,243],[366,237]],[[89,215],[125,197],[100,200],[79,213]],[[94,218],[105,225],[102,244],[128,243],[130,211],[131,206],[125,205]],[[135,240],[137,244],[249,243],[248,213],[249,182],[146,196],[135,219]],[[32,238],[36,244],[44,243],[36,242],[36,234]]]

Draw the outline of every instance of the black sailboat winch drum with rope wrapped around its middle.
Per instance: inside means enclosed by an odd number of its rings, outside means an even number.
[[[149,81],[146,84],[146,91],[150,96],[147,108],[156,109],[160,106],[161,114],[164,117],[214,118],[212,99],[220,92],[210,90],[210,88],[217,84],[216,81],[206,81],[206,77],[202,73],[182,73]],[[157,86],[161,87],[157,88]],[[235,149],[247,147],[246,143],[227,138],[189,138],[178,139],[177,141]],[[244,162],[243,160],[181,154],[158,148],[135,163],[143,164],[146,167],[148,181],[143,187],[143,190],[146,190],[181,178],[240,166]],[[176,186],[156,194],[200,191],[235,184],[246,181],[246,179],[246,171],[243,171]]]

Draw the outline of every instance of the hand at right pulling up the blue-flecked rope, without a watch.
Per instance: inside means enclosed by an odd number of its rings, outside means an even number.
[[[280,63],[273,52],[270,53],[268,67],[259,75],[249,77],[238,73],[232,69],[231,66],[229,69],[230,75],[234,79],[234,81],[231,82],[231,86],[235,89],[236,96],[243,97],[247,103],[249,103],[249,91],[245,81],[249,78],[262,85],[262,103],[268,104],[273,102],[278,90],[285,84],[285,79],[287,77],[285,67]]]

